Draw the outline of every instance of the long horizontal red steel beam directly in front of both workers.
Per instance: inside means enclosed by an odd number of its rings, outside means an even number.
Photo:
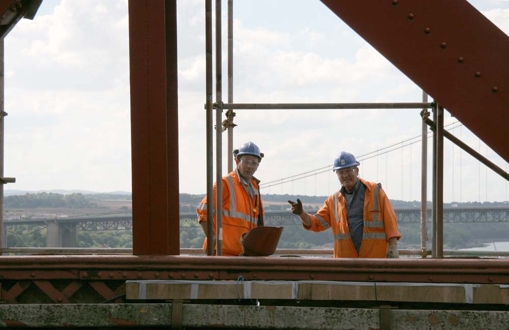
[[[0,257],[4,280],[327,280],[509,284],[501,259],[332,259],[203,256]],[[1,281],[0,281],[1,282]]]

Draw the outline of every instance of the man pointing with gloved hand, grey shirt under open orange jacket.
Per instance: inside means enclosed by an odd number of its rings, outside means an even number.
[[[341,189],[329,196],[314,215],[302,202],[288,201],[304,229],[320,232],[332,227],[334,258],[399,258],[398,222],[380,183],[359,177],[359,162],[348,152],[334,159],[333,171]]]

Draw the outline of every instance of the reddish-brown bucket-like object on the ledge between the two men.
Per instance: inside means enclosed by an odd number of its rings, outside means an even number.
[[[266,257],[276,252],[277,243],[283,227],[255,227],[242,234],[240,243],[242,244],[241,255],[248,257]]]

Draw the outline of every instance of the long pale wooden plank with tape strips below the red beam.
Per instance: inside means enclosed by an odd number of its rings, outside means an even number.
[[[140,294],[140,285],[145,286]],[[500,285],[328,281],[128,281],[127,299],[297,299],[509,304]],[[250,288],[248,294],[244,289]],[[143,287],[142,287],[143,289]],[[473,296],[473,298],[472,298]],[[473,300],[472,300],[473,299]]]

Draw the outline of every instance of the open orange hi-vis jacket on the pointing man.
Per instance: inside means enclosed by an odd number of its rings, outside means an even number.
[[[386,258],[389,239],[401,234],[398,231],[396,214],[380,183],[365,181],[364,228],[360,251],[357,254],[350,237],[345,198],[341,191],[329,196],[315,215],[309,214],[311,227],[304,228],[320,232],[332,227],[334,236],[334,258]]]

